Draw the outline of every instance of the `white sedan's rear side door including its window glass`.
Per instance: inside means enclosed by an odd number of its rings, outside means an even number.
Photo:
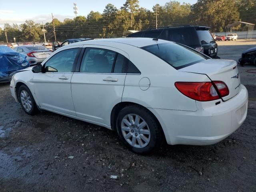
[[[78,117],[110,126],[110,114],[122,101],[126,78],[119,54],[129,58],[126,52],[112,47],[90,45],[85,48],[78,61],[80,68],[71,80]]]

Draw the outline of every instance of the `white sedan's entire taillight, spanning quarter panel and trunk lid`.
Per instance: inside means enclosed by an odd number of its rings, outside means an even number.
[[[224,82],[214,81],[214,84],[221,97],[229,94]],[[212,101],[220,98],[212,82],[176,82],[175,86],[182,94],[197,101]]]

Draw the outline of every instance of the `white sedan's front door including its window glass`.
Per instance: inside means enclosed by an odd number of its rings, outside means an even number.
[[[34,74],[34,93],[42,109],[76,116],[70,82],[80,50],[69,47],[54,54],[44,64],[45,72]]]

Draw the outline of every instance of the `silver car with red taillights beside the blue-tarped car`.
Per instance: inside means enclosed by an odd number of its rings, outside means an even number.
[[[51,50],[41,45],[22,45],[13,50],[26,55],[30,66],[41,64],[52,53]]]

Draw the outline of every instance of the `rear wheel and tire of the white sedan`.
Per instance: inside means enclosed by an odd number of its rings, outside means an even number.
[[[142,125],[144,126],[140,128]],[[162,144],[162,128],[156,118],[141,106],[131,105],[120,110],[116,127],[122,143],[135,153],[147,154]]]

